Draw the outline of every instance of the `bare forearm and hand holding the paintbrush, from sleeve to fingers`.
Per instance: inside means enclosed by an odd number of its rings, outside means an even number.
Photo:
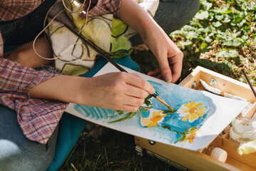
[[[45,98],[99,108],[135,112],[153,86],[136,73],[107,73],[93,78],[55,76],[29,91],[31,98]]]

